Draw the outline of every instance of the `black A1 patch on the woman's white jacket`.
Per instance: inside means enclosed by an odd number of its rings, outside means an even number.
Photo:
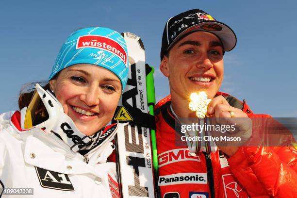
[[[57,173],[36,166],[35,169],[42,187],[56,190],[74,191],[74,187],[67,174]]]

